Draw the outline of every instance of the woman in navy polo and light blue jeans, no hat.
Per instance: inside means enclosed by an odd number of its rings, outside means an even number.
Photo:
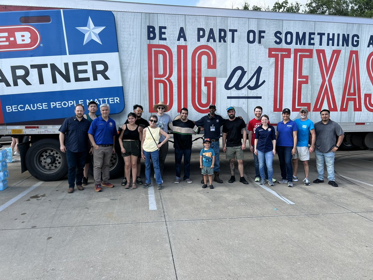
[[[273,176],[273,155],[276,153],[276,133],[275,128],[268,124],[269,118],[267,115],[261,116],[261,125],[255,130],[254,153],[258,156],[260,183],[264,185],[264,165],[267,164],[268,184],[274,186],[272,181]]]

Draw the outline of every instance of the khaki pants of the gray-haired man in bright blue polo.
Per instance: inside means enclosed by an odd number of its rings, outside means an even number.
[[[101,184],[101,170],[102,181],[109,182],[110,178],[110,159],[113,154],[113,146],[101,147],[98,150],[93,149],[93,178],[94,183]]]

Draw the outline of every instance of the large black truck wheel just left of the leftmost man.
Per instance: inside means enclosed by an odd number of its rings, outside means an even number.
[[[60,151],[60,143],[55,139],[33,143],[26,153],[26,167],[41,181],[57,181],[68,172],[66,154]]]

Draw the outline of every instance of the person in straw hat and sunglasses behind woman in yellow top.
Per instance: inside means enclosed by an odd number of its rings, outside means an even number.
[[[158,104],[154,104],[153,106],[154,111],[157,111],[157,127],[163,130],[165,133],[168,133],[168,125],[172,122],[171,116],[164,113],[168,111],[168,105],[164,104],[162,101]],[[165,136],[162,134],[159,143],[163,142]],[[166,156],[168,153],[168,142],[164,143],[159,149],[159,168],[161,172],[161,176],[163,177],[163,169],[164,169],[164,161],[166,161]]]

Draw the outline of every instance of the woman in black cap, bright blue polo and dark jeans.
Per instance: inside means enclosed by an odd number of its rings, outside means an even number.
[[[279,156],[281,177],[279,184],[293,186],[293,167],[291,158],[297,149],[297,124],[290,119],[290,109],[282,110],[282,121],[277,124],[276,152]]]

